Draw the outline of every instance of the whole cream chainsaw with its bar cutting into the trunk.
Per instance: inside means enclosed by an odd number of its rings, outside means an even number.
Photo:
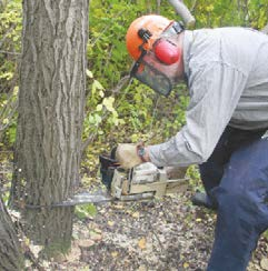
[[[147,162],[126,170],[115,159],[115,150],[110,155],[100,155],[99,161],[101,182],[107,188],[106,191],[82,192],[61,202],[59,207],[150,200],[179,192],[187,185],[187,168],[158,168]]]

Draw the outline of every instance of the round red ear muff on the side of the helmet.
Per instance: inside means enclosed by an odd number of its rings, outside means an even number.
[[[153,51],[157,59],[163,62],[165,64],[176,63],[181,56],[181,51],[178,47],[172,44],[170,41],[163,39],[159,39],[156,42]]]

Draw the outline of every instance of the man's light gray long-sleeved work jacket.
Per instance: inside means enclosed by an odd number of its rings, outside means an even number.
[[[156,165],[207,161],[226,126],[268,128],[268,36],[244,28],[186,31],[183,63],[190,94],[186,126],[150,147]]]

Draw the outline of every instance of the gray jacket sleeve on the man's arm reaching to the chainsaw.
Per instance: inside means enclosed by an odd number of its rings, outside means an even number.
[[[247,74],[221,62],[209,63],[190,76],[186,126],[169,141],[150,145],[158,167],[202,163],[212,153],[245,89]]]

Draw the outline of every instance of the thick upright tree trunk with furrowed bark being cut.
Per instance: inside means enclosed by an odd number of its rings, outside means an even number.
[[[38,244],[70,244],[86,89],[88,0],[24,0],[11,203]],[[31,209],[36,207],[36,209]],[[43,207],[43,208],[38,208]]]

